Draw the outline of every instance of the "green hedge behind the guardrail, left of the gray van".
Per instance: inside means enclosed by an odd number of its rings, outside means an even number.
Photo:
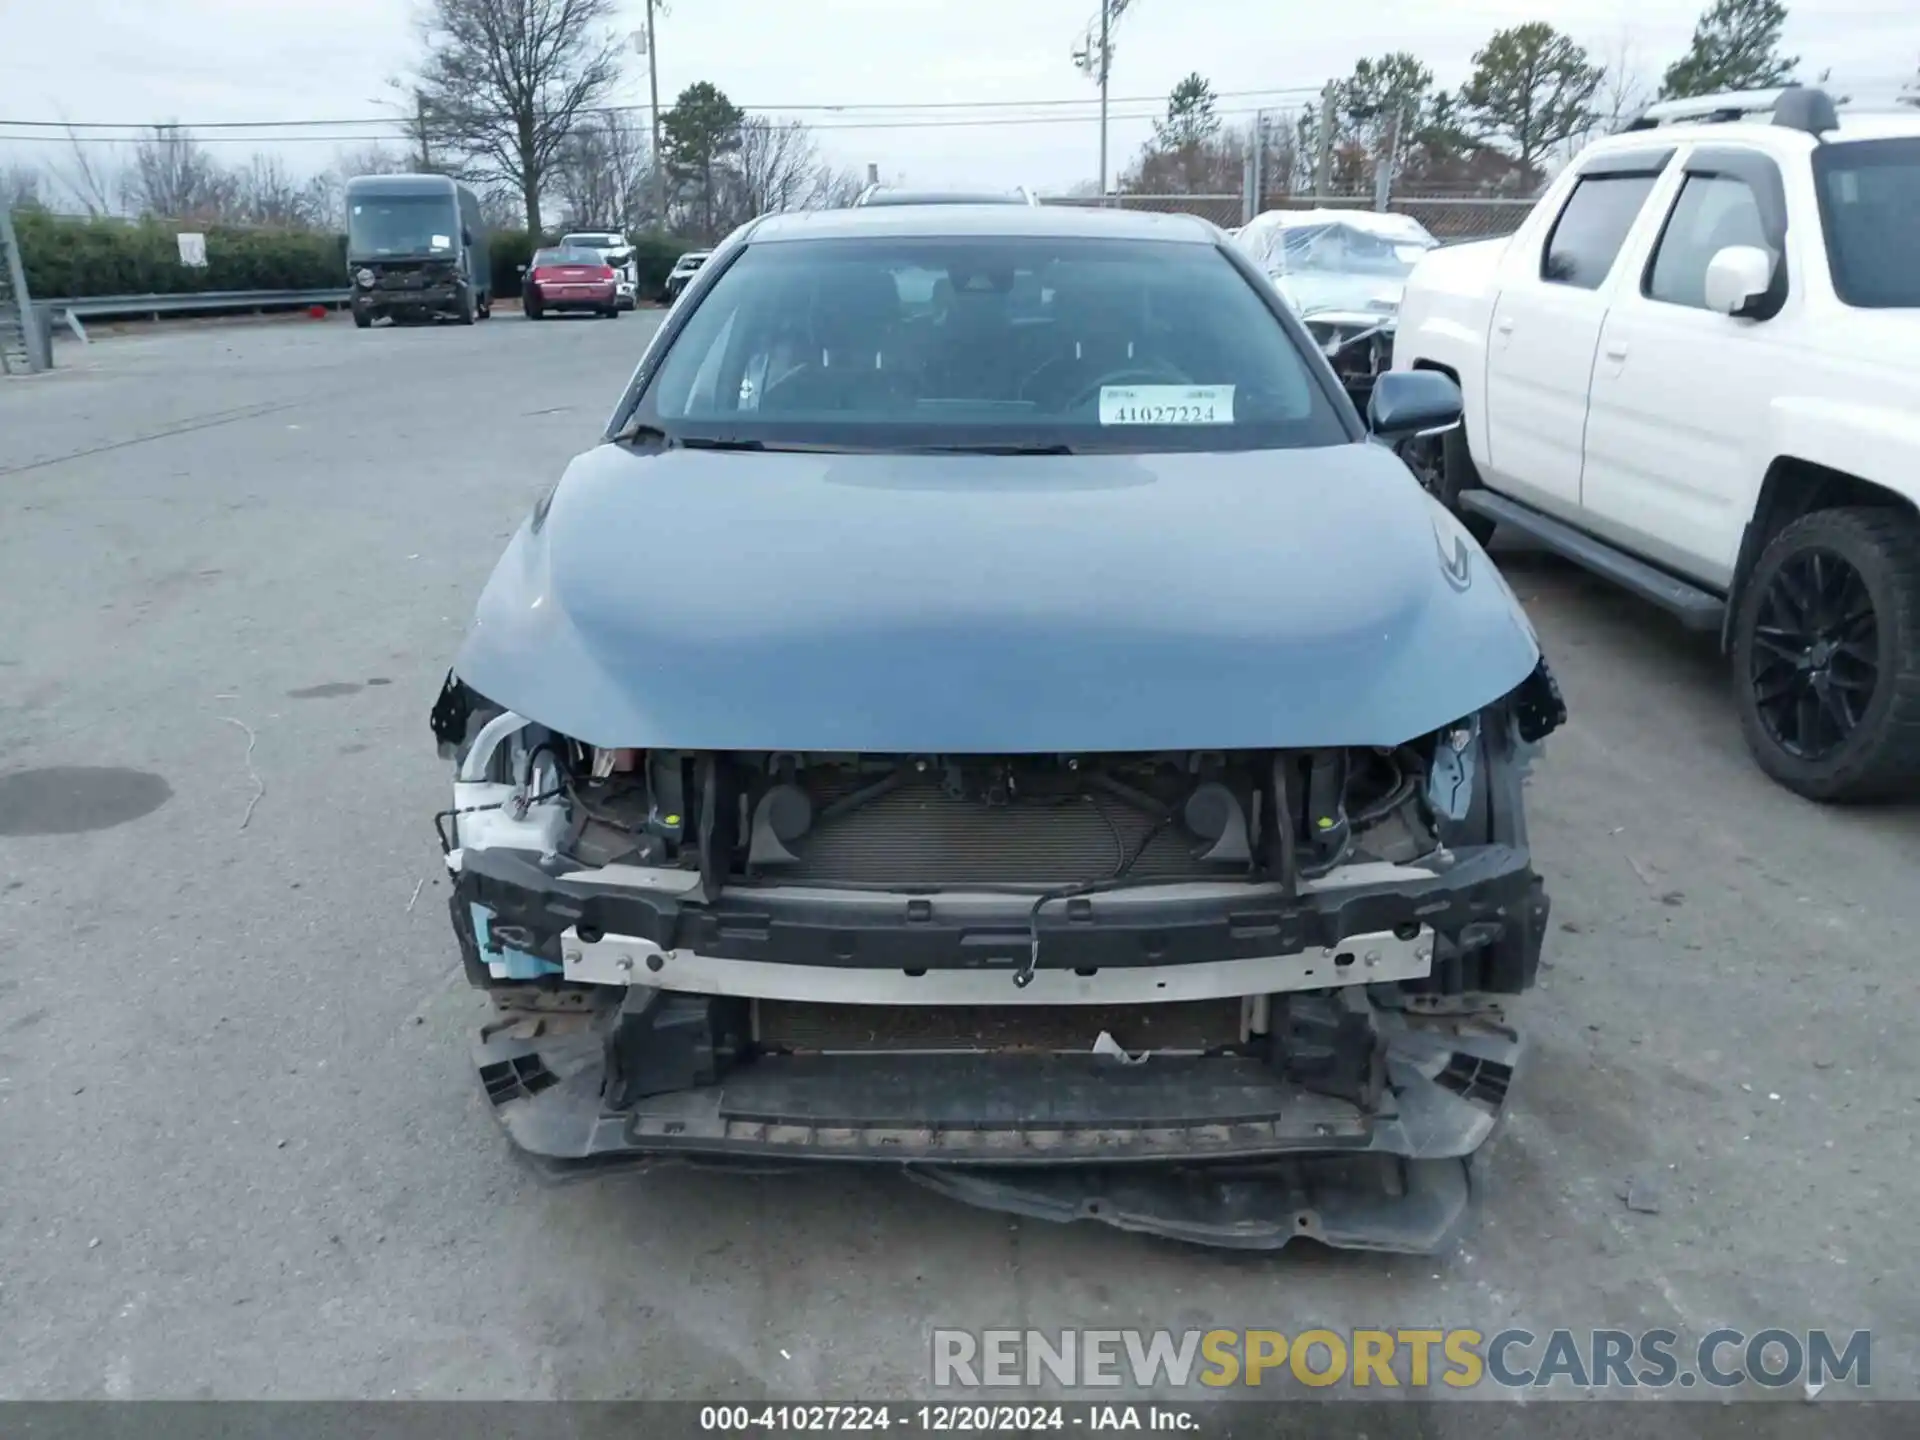
[[[209,227],[205,269],[180,265],[177,225],[83,221],[15,211],[27,290],[42,300],[182,296],[198,290],[321,290],[344,286],[346,238],[321,230]]]

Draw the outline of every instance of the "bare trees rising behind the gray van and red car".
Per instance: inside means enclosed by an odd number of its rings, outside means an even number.
[[[858,194],[858,177],[828,163],[806,125],[747,115],[708,83],[660,111],[655,156],[647,115],[609,104],[624,77],[616,15],[616,0],[430,0],[419,65],[394,81],[403,146],[367,144],[300,177],[271,152],[223,163],[179,125],[150,127],[115,159],[69,132],[71,154],[56,163],[0,171],[0,200],[336,227],[348,177],[434,171],[472,184],[490,225],[532,236],[557,219],[714,238],[766,211]]]

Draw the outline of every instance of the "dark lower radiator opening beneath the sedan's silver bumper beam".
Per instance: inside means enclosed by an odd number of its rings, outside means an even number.
[[[793,1054],[1208,1054],[1246,1041],[1248,1002],[906,1006],[756,1000],[755,1039]]]

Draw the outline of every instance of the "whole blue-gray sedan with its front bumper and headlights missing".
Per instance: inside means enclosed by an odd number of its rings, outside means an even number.
[[[1540,964],[1513,593],[1190,217],[780,215],[507,547],[434,733],[513,1142],[1434,1250]]]

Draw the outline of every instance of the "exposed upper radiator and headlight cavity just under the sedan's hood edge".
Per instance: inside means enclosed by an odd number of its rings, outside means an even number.
[[[1471,739],[1463,726],[1392,751],[883,756],[595,751],[522,732],[488,783],[566,810],[557,852],[697,872],[708,895],[1298,879],[1436,851],[1471,806]]]

